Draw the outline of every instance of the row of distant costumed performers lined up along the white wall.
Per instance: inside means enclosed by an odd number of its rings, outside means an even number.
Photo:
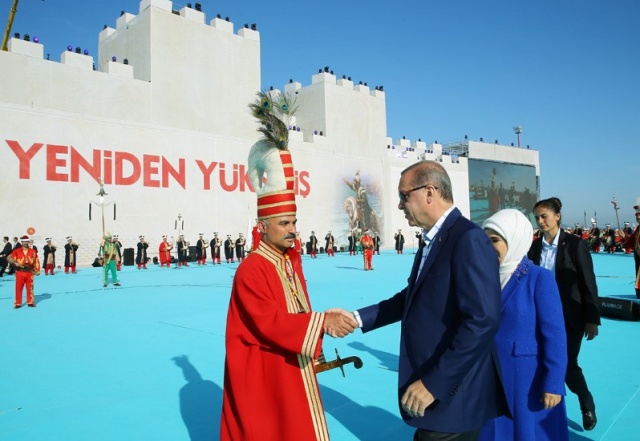
[[[636,206],[637,207],[637,206]],[[637,223],[640,224],[640,210],[636,208]],[[624,222],[623,228],[613,229],[610,224],[606,224],[603,229],[598,227],[596,222],[592,222],[591,228],[582,228],[576,224],[574,228],[566,229],[568,234],[580,237],[588,243],[589,249],[593,253],[615,253],[624,252],[625,254],[634,254],[636,263],[636,294],[640,298],[640,244],[638,238],[638,228],[635,230],[630,226],[629,222]],[[534,237],[539,235],[539,231],[535,231]],[[226,263],[234,263],[236,260],[242,262],[247,253],[247,240],[242,233],[239,233],[236,239],[230,234],[226,240],[222,240],[218,233],[214,233],[211,240],[206,240],[204,234],[200,233],[195,246],[195,261],[198,265],[206,265],[210,257],[213,265],[222,263],[222,253]],[[251,248],[253,251],[260,242],[260,234],[257,227],[251,232]],[[148,257],[147,249],[149,243],[144,236],[139,236],[136,244],[135,264],[138,269],[147,269],[147,263],[151,260]],[[418,245],[422,244],[422,232],[416,233]],[[42,247],[43,259],[40,263],[38,255],[38,247],[33,243],[33,239],[28,236],[22,236],[21,239],[14,237],[10,240],[8,236],[3,238],[3,249],[0,253],[0,277],[5,274],[16,275],[16,297],[15,307],[22,306],[22,291],[26,289],[27,305],[35,307],[33,301],[33,277],[39,275],[44,269],[44,275],[54,275],[56,269],[62,269],[62,266],[56,265],[56,252],[58,247],[53,243],[51,237],[45,239],[45,245]],[[396,253],[402,254],[404,249],[405,238],[402,230],[398,230],[394,234],[394,249]],[[318,246],[318,237],[315,231],[311,232],[308,241],[303,241],[300,233],[296,233],[294,248],[300,254],[308,254],[311,258],[317,258],[319,252],[324,252],[329,257],[335,256],[338,246],[332,231],[329,231],[324,237],[324,248]],[[372,260],[374,254],[380,254],[381,239],[378,233],[370,230],[360,233],[353,231],[348,236],[349,255],[363,255],[364,270],[373,270]],[[65,274],[76,274],[77,251],[79,245],[73,240],[72,236],[66,237],[64,244],[64,272]],[[167,236],[162,236],[162,241],[158,247],[158,263],[160,267],[171,267],[172,263],[177,266],[189,266],[191,256],[189,255],[190,242],[185,240],[184,235],[180,235],[179,239],[174,243],[170,242]],[[636,248],[639,248],[636,250]],[[18,252],[16,252],[18,250]],[[27,251],[24,251],[27,250]],[[14,254],[12,258],[11,255]],[[177,253],[175,256],[173,253]],[[120,271],[123,263],[122,259],[123,245],[118,235],[105,233],[105,237],[100,243],[98,257],[95,259],[93,266],[103,268],[103,286],[108,284],[108,276],[114,286],[120,286],[117,278],[117,271]],[[12,264],[13,263],[13,264]]]

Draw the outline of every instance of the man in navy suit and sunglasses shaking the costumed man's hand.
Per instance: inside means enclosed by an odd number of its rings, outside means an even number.
[[[498,259],[487,235],[453,205],[437,162],[402,172],[400,203],[425,245],[408,285],[354,312],[363,332],[402,322],[398,398],[414,440],[475,440],[485,422],[509,415],[494,336],[500,325]]]

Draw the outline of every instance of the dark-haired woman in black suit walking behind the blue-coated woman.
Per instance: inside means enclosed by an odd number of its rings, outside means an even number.
[[[584,429],[592,430],[598,422],[596,406],[578,365],[578,355],[583,337],[593,340],[598,335],[598,286],[587,245],[560,227],[561,209],[558,198],[543,199],[533,207],[543,235],[533,242],[528,257],[555,274],[567,331],[566,383],[578,396]]]

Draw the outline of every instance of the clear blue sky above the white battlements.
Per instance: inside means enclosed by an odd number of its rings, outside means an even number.
[[[185,2],[173,2],[181,9]],[[193,2],[195,4],[195,2]],[[563,223],[633,224],[640,203],[637,0],[201,1],[237,30],[256,23],[262,87],[303,86],[328,66],[384,87],[387,134],[427,143],[465,135],[540,152],[540,197]],[[0,0],[2,28],[13,0]],[[138,0],[20,0],[11,34],[97,56],[98,34]]]

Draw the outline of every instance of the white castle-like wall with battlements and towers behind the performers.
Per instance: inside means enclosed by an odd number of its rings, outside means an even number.
[[[107,229],[125,247],[143,234],[157,250],[163,234],[177,236],[178,214],[192,244],[200,232],[247,234],[256,199],[246,159],[259,136],[247,104],[260,89],[259,34],[234,33],[233,23],[216,18],[207,24],[191,9],[171,10],[169,1],[143,0],[137,15],[125,13],[115,28],[104,29],[95,71],[91,56],[65,52],[55,63],[33,42],[12,39],[10,51],[0,52],[0,78],[10,85],[0,88],[0,235],[31,228],[40,247],[47,236],[60,246],[73,235],[81,263],[90,263],[102,230],[100,207],[93,205],[88,219],[99,178],[108,193]],[[421,157],[442,161],[456,205],[469,214],[466,158],[451,163],[437,145],[426,153],[423,142],[392,143],[384,92],[330,73],[283,90],[300,105],[295,124],[301,129],[290,132],[290,149],[304,237],[332,230],[346,245],[343,204],[352,193],[346,182],[359,171],[380,202],[383,244],[393,246],[398,228],[411,243],[413,229],[397,209],[397,183],[400,171]],[[494,150],[493,159],[537,166],[537,152]]]

